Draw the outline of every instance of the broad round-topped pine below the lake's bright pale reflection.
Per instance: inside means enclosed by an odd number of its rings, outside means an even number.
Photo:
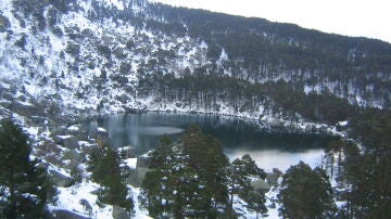
[[[285,218],[332,217],[336,205],[326,172],[314,170],[303,162],[291,166],[282,177],[278,194],[282,206],[279,212]]]

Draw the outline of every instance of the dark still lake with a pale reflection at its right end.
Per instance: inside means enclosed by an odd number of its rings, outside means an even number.
[[[131,145],[138,154],[142,154],[154,149],[162,134],[178,140],[193,124],[218,138],[230,159],[250,154],[265,170],[274,167],[286,170],[300,160],[311,166],[319,165],[323,149],[332,139],[315,133],[272,131],[257,123],[207,114],[118,114],[90,120],[88,127],[89,130],[103,127],[109,132],[112,146]]]

